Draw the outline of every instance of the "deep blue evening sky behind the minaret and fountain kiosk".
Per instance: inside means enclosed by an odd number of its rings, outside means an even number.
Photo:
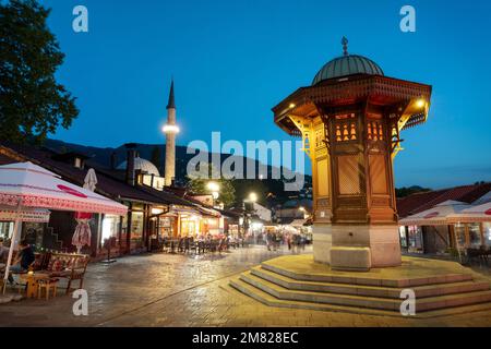
[[[373,59],[386,75],[433,85],[428,123],[404,133],[396,184],[491,180],[490,1],[43,2],[67,53],[59,79],[81,109],[55,139],[164,143],[173,74],[178,144],[211,143],[213,131],[240,142],[291,140],[271,108],[339,56],[346,35],[349,51]],[[88,9],[88,34],[72,31],[77,4]],[[416,8],[416,33],[399,29],[405,4]]]

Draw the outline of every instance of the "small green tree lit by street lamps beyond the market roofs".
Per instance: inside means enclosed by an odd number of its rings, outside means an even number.
[[[209,194],[209,189],[207,188],[209,182],[216,182],[219,185],[219,196],[216,200],[218,203],[223,203],[225,207],[229,207],[236,201],[236,190],[233,189],[232,180],[216,178],[212,173],[216,173],[216,169],[212,164],[200,164],[200,166],[207,167],[205,176],[202,177],[188,177],[188,189],[194,194]]]

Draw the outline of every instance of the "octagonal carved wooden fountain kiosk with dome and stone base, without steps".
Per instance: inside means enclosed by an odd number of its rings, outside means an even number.
[[[342,270],[398,266],[393,160],[400,131],[427,120],[431,86],[384,76],[347,44],[273,108],[275,123],[301,136],[312,160],[314,260]]]

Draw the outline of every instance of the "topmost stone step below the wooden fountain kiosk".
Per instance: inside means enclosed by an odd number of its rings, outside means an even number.
[[[362,285],[362,286],[382,286],[382,287],[394,287],[394,288],[410,288],[417,286],[429,286],[429,285],[440,285],[440,284],[451,284],[451,282],[464,282],[471,281],[472,275],[470,274],[441,274],[441,275],[428,275],[424,277],[398,277],[398,278],[387,278],[387,277],[376,277],[369,273],[343,273],[343,272],[331,272],[324,274],[307,274],[297,273],[286,268],[278,267],[273,263],[263,262],[261,267],[289,277],[295,280],[300,281],[314,281],[314,282],[334,282],[334,284],[348,284],[348,285]],[[356,276],[354,276],[356,274]],[[364,276],[363,274],[367,274]],[[368,276],[370,275],[370,276]]]

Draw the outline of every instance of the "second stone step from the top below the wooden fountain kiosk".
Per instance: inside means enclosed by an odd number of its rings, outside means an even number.
[[[251,273],[254,276],[258,276],[260,278],[263,278],[267,281],[279,285],[290,290],[392,298],[392,299],[400,299],[400,292],[403,290],[403,288],[383,287],[383,286],[376,287],[363,285],[296,280],[277,273],[270,272],[261,266],[253,267],[251,269]],[[438,284],[429,286],[417,286],[414,287],[412,289],[415,290],[416,297],[420,299],[443,294],[486,291],[490,289],[490,285],[487,281],[464,281],[464,282]]]

